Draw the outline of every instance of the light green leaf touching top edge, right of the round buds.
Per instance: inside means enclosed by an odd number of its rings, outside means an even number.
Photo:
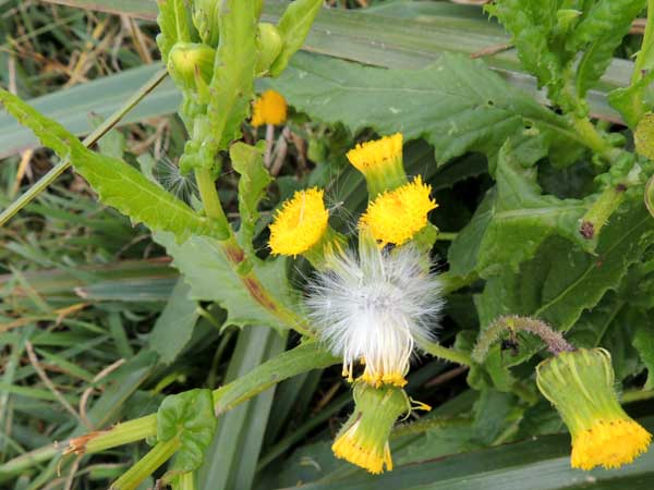
[[[304,44],[306,35],[316,15],[323,7],[323,0],[295,0],[287,7],[277,29],[283,40],[281,52],[270,66],[270,75],[279,76],[289,64],[289,60]]]

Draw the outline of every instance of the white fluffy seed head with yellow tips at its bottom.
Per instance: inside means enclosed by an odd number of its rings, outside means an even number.
[[[365,362],[364,381],[403,384],[415,341],[431,340],[443,308],[441,283],[412,247],[375,245],[335,257],[308,284],[306,305],[320,339],[343,356],[351,375]]]

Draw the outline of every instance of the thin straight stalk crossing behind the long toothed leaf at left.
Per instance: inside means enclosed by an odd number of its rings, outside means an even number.
[[[98,127],[96,127],[84,140],[84,146],[89,147],[102,136],[105,136],[121,119],[134,109],[145,96],[153,91],[166,78],[168,72],[166,69],[159,70],[155,75],[143,85],[118,111],[112,113]],[[59,175],[71,167],[70,160],[63,160],[57,163],[48,173],[38,180],[36,184],[29,187],[23,195],[14,200],[2,213],[0,213],[0,226],[4,225],[16,212],[27,206],[36,196],[46,189]]]

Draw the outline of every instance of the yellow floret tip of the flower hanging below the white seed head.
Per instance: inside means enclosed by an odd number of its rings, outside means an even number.
[[[355,422],[334,441],[331,445],[334,455],[360,468],[367,469],[374,475],[383,473],[384,466],[390,471],[392,469],[392,458],[390,457],[388,442],[383,445],[368,444],[364,439],[358,437],[358,429],[359,422]]]

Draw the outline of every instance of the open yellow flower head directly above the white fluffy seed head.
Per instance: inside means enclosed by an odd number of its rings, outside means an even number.
[[[368,204],[360,226],[368,226],[383,245],[402,245],[427,225],[427,213],[438,207],[429,197],[432,187],[421,176],[395,191],[385,192]]]

